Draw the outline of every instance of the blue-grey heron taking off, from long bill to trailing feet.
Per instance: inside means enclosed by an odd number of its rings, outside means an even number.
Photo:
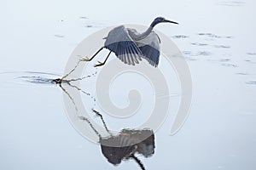
[[[103,62],[98,61],[95,67],[105,65],[109,55],[113,52],[117,58],[127,65],[136,65],[143,59],[157,67],[160,59],[160,37],[153,31],[154,26],[160,23],[178,24],[172,20],[166,20],[164,17],[157,17],[143,33],[137,32],[132,28],[117,26],[108,32],[108,37],[104,46],[100,48],[92,57],[85,57],[81,61],[90,61],[94,59],[103,48],[107,48],[109,53]]]

